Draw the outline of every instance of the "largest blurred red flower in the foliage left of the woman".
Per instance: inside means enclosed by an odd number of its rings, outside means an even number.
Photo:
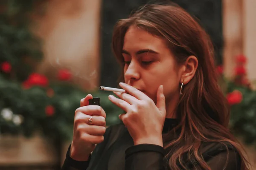
[[[49,80],[46,76],[38,73],[32,73],[28,79],[23,82],[23,88],[30,88],[31,86],[42,86],[46,87],[49,84]]]

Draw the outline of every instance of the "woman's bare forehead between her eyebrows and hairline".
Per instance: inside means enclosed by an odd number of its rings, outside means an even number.
[[[139,49],[152,49],[156,51],[166,48],[166,44],[162,38],[150,34],[148,31],[144,31],[136,26],[128,28],[124,37],[123,49],[127,51]]]

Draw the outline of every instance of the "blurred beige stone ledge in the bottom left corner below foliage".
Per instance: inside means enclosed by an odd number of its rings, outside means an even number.
[[[54,146],[41,136],[0,136],[0,165],[54,165],[58,156]]]

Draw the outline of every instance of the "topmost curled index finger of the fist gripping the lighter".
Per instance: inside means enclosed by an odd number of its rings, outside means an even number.
[[[84,113],[84,114],[87,114],[90,116],[93,116],[93,115],[103,116],[106,118],[105,111],[102,109],[102,107],[100,107],[98,105],[83,106],[83,107],[76,109],[76,113],[77,112],[81,112],[81,113]]]

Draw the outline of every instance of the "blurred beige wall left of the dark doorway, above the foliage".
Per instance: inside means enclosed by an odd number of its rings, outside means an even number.
[[[98,85],[101,0],[49,1],[36,33],[44,40],[44,61],[38,71],[53,77],[68,68],[84,88]]]

